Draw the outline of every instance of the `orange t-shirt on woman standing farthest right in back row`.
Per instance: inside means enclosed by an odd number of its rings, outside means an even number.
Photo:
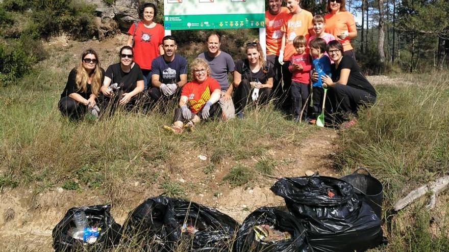
[[[353,14],[348,11],[341,11],[336,14],[327,14],[325,15],[326,19],[326,31],[334,35],[335,39],[340,41],[341,45],[343,45],[343,50],[352,50],[353,46],[351,45],[351,39],[346,37],[343,40],[340,40],[337,35],[340,35],[342,32],[354,32],[351,30],[351,25],[355,25],[356,21],[354,20]]]

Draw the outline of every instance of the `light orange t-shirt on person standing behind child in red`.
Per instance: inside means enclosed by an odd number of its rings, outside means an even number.
[[[284,61],[289,61],[291,55],[296,53],[293,46],[293,40],[296,36],[304,36],[309,39],[309,30],[312,29],[313,15],[309,11],[301,10],[300,13],[291,15],[284,23],[281,31],[286,34],[286,42],[284,49]]]

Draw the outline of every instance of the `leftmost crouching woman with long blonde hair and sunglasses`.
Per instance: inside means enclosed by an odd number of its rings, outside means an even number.
[[[90,109],[98,112],[96,98],[100,91],[105,70],[100,67],[97,53],[87,49],[81,54],[80,62],[67,78],[58,107],[64,116],[80,119]],[[93,112],[95,114],[95,112]]]

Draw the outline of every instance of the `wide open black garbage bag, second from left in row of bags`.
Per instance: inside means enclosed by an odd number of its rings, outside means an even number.
[[[239,223],[213,208],[155,197],[130,212],[123,227],[129,246],[144,251],[229,251]]]

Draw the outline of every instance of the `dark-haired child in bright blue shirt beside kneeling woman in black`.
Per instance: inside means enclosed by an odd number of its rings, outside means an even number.
[[[326,55],[326,40],[322,38],[314,38],[309,42],[310,55],[312,56],[313,71],[318,74],[318,79],[312,82],[312,103],[313,114],[309,122],[317,124],[320,127],[324,126],[323,107],[325,103],[326,89],[322,87],[321,76],[331,76],[331,60]],[[318,120],[319,119],[319,122]]]

